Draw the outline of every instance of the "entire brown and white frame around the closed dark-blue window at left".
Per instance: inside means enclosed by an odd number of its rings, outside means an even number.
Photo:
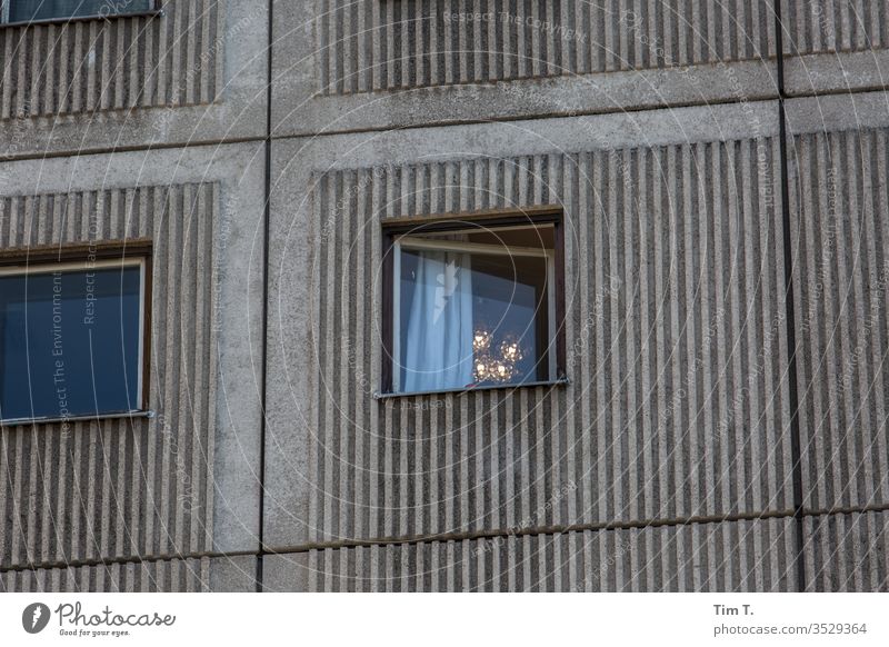
[[[90,245],[74,243],[51,249],[9,249],[0,252],[0,276],[44,275],[54,271],[90,271],[99,268],[139,267],[139,385],[138,409],[84,416],[47,416],[34,418],[2,418],[0,427],[74,422],[78,420],[106,420],[151,416],[151,302],[152,302],[152,243],[149,239],[101,241]]]

